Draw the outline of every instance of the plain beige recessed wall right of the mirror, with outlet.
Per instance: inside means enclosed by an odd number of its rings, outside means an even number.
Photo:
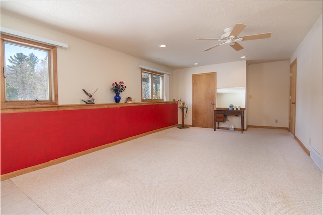
[[[289,61],[251,64],[247,74],[248,125],[288,128]]]

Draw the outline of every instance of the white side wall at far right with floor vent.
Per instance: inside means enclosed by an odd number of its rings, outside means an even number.
[[[310,150],[323,156],[322,97],[323,44],[322,15],[290,59],[297,58],[295,136]]]

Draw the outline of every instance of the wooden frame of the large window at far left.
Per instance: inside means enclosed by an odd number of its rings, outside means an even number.
[[[5,41],[23,45],[26,47],[39,48],[47,50],[48,55],[48,69],[49,69],[49,100],[42,100],[36,102],[33,100],[19,100],[8,101],[6,100],[6,86],[5,86],[5,59],[4,59],[4,43]],[[40,42],[35,42],[7,34],[1,34],[1,106],[33,106],[33,105],[58,105],[58,84],[57,84],[57,50],[55,46],[47,45]]]

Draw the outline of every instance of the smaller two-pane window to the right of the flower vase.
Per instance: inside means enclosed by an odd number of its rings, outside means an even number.
[[[141,69],[142,102],[163,101],[163,74]]]

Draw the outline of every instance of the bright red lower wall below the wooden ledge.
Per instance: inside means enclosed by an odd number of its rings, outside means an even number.
[[[177,104],[1,114],[1,174],[177,124]]]

